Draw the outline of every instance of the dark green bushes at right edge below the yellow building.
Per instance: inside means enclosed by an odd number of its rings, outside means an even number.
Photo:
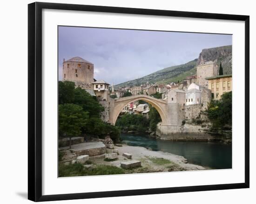
[[[220,100],[212,100],[207,113],[213,127],[232,125],[232,92],[222,94]]]

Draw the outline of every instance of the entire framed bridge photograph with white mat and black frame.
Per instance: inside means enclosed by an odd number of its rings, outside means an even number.
[[[249,16],[28,5],[28,199],[249,188]]]

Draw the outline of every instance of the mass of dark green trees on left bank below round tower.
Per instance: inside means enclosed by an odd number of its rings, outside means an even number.
[[[75,137],[81,133],[119,140],[120,130],[101,120],[104,107],[81,87],[74,88],[74,82],[59,82],[59,135]],[[81,118],[83,120],[81,120]]]

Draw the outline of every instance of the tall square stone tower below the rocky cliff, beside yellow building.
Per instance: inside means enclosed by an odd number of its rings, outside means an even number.
[[[219,72],[219,66],[213,61],[208,61],[196,66],[196,83],[199,86],[208,88],[207,77],[217,76]]]

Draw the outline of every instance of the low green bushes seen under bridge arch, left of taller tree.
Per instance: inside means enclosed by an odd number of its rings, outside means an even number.
[[[117,119],[116,126],[137,132],[148,130],[149,121],[141,114],[125,114]]]

